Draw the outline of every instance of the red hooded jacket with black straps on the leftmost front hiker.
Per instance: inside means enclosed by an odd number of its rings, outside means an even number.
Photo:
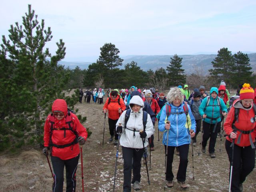
[[[68,124],[66,124],[66,117],[68,115],[68,106],[66,101],[63,99],[56,99],[52,104],[52,112],[61,111],[64,112],[65,116],[62,120],[58,120],[54,117],[54,128],[68,128]],[[70,113],[71,119],[73,122],[73,130],[77,132],[78,136],[87,138],[87,131],[84,126],[80,123],[77,116],[73,113]],[[76,138],[76,135],[71,130],[66,130],[66,134],[64,137],[64,130],[52,130],[51,136],[51,114],[48,115],[46,122],[44,124],[44,146],[50,147],[50,137],[52,139],[52,143],[56,145],[65,145],[70,144]],[[73,144],[64,148],[57,148],[52,146],[52,156],[56,156],[62,160],[67,160],[76,157],[80,153],[79,144]]]

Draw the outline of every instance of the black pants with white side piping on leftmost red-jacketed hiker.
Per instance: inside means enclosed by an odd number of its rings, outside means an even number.
[[[76,191],[76,168],[79,156],[68,160],[62,160],[58,157],[51,156],[52,168],[54,172],[53,192],[63,192],[64,166],[66,167],[66,192]]]

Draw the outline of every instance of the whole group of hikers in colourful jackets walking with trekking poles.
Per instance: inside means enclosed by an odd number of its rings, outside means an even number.
[[[90,103],[88,96],[91,95],[93,98],[95,96],[94,103],[96,100],[99,100],[99,104],[103,103],[104,90],[101,88],[99,90],[95,88],[92,92],[86,90],[85,100],[88,103]],[[134,190],[140,190],[142,158],[148,173],[146,149],[149,145],[150,152],[154,151],[156,122],[158,122],[158,131],[163,132],[166,187],[174,186],[172,162],[176,150],[176,154],[180,156],[176,179],[182,189],[188,188],[186,184],[188,151],[190,144],[192,151],[193,146],[196,146],[202,124],[200,147],[202,153],[206,153],[207,142],[210,139],[208,145],[210,158],[216,157],[215,144],[218,134],[221,137],[225,132],[225,148],[230,161],[229,191],[243,191],[243,182],[255,165],[256,92],[250,84],[240,84],[236,94],[231,97],[224,81],[218,88],[210,88],[209,93],[204,86],[195,88],[192,93],[188,85],[184,85],[183,88],[172,87],[167,95],[163,92],[159,93],[154,88],[140,90],[132,86],[129,90],[109,89],[106,95],[103,112],[105,118],[108,113],[109,141],[114,140],[115,145],[119,146],[120,143],[122,146],[124,192],[130,192],[132,186]],[[80,96],[84,96],[82,90]],[[82,102],[82,97],[79,102]],[[45,155],[48,154],[48,150],[51,151],[54,171],[53,191],[62,191],[64,166],[66,166],[66,191],[75,191],[78,144],[84,144],[86,138],[86,128],[80,124],[76,115],[67,110],[66,102],[55,100],[52,114],[48,116],[44,126],[43,149]],[[149,177],[148,183],[150,183]]]

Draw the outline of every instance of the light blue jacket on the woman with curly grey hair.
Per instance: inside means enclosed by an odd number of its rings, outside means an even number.
[[[167,105],[171,106],[171,113],[175,112],[184,112],[183,106],[184,103],[182,103],[179,107],[176,107],[170,103],[167,103]],[[189,105],[188,106],[188,116],[186,116],[185,113],[182,114],[170,114],[168,117],[168,120],[170,121],[170,130],[165,129],[165,124],[167,121],[166,116],[166,107],[163,106],[158,129],[161,132],[164,132],[163,134],[163,144],[167,144],[168,139],[168,146],[181,146],[184,144],[190,144],[190,134],[189,130],[192,129],[194,132],[196,132],[196,121],[194,119],[194,116],[190,110]],[[167,138],[167,131],[168,138]]]

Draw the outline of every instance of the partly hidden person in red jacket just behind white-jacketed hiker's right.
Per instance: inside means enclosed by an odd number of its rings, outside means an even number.
[[[160,112],[160,107],[157,103],[157,100],[153,98],[152,92],[150,90],[146,90],[145,92],[145,98],[142,99],[143,101],[148,102],[150,105],[152,111],[157,115]],[[155,124],[154,124],[155,126]],[[154,151],[154,134],[148,138],[150,150]]]

